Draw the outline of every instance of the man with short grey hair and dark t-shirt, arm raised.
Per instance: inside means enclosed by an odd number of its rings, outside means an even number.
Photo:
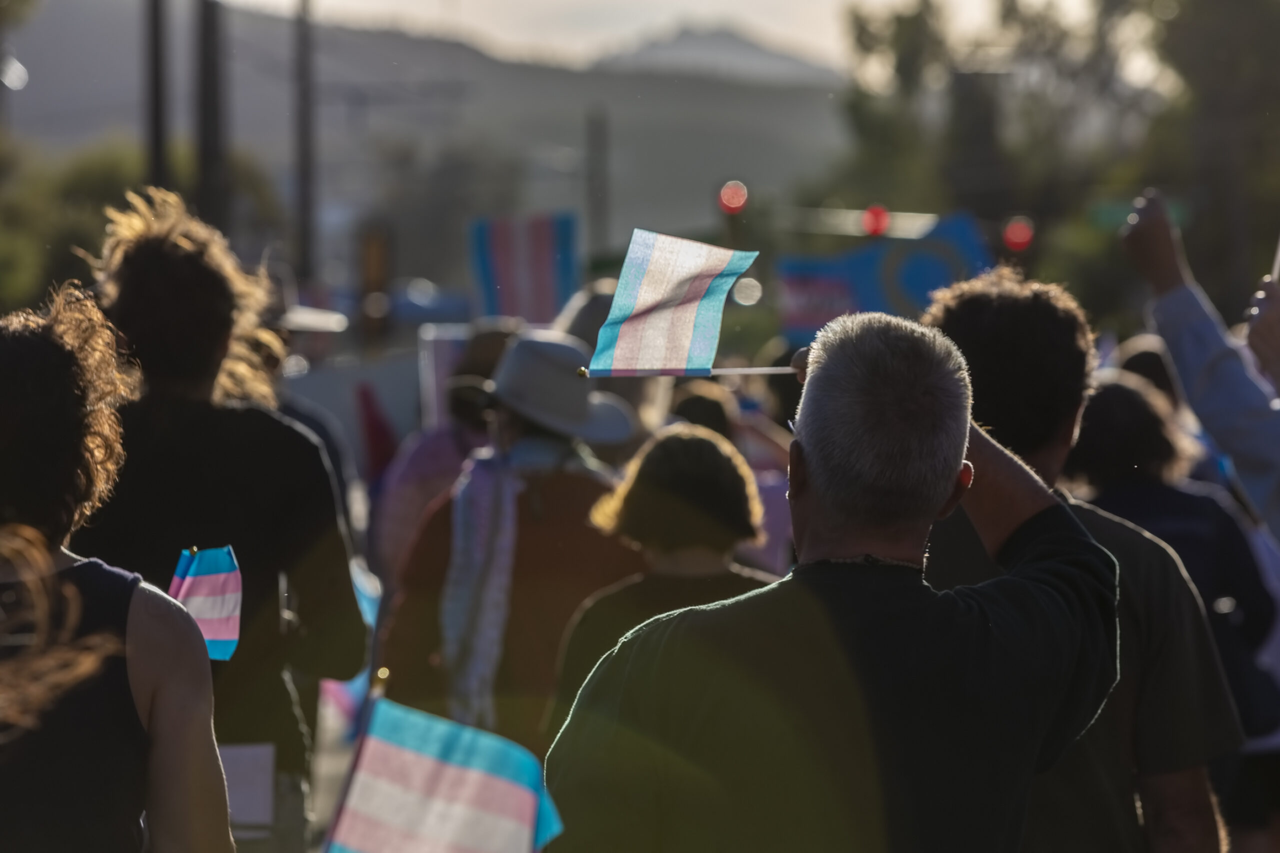
[[[868,313],[797,361],[799,565],[596,664],[547,758],[554,853],[1015,850],[1032,776],[1115,683],[1115,561],[972,426],[955,345]],[[1007,574],[936,592],[925,542],[961,503]]]

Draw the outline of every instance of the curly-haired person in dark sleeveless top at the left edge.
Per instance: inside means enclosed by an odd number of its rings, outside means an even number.
[[[82,290],[0,317],[0,687],[27,685],[0,696],[5,849],[137,853],[143,812],[151,850],[233,848],[200,629],[64,547],[124,460],[122,367]]]

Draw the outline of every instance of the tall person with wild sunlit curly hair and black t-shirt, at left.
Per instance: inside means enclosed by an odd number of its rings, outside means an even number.
[[[353,678],[366,629],[333,469],[316,437],[261,403],[253,347],[269,284],[163,189],[110,211],[97,295],[141,373],[122,409],[120,482],[74,546],[166,588],[184,549],[236,551],[239,647],[212,664],[219,744],[271,744],[275,824],[242,849],[305,849],[310,730],[292,673]],[[259,400],[259,403],[246,402]]]

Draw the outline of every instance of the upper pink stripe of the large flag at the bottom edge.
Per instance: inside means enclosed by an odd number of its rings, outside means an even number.
[[[529,826],[538,818],[538,795],[524,785],[451,765],[379,738],[365,738],[357,772],[428,799],[468,806]]]

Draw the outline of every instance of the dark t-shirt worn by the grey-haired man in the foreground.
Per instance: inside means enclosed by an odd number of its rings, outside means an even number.
[[[547,758],[553,853],[1015,850],[1116,678],[1115,563],[1050,508],[1009,577],[813,563],[602,659]]]

